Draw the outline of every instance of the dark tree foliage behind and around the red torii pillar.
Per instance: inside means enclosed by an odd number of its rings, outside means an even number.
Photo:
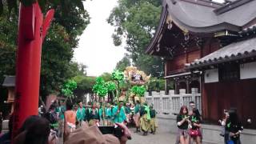
[[[31,0],[21,0],[30,5]],[[54,21],[42,46],[40,95],[61,92],[63,83],[77,75],[86,75],[86,66],[73,62],[78,36],[90,22],[89,14],[82,5],[83,0],[40,0],[46,10],[54,8]],[[15,74],[18,1],[0,0],[0,81],[3,75]],[[2,10],[2,11],[1,11]]]

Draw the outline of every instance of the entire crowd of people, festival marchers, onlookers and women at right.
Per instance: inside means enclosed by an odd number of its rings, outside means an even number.
[[[157,128],[156,110],[153,104],[135,104],[123,102],[101,104],[88,102],[78,105],[67,101],[54,101],[49,110],[45,106],[38,108],[38,115],[32,115],[26,119],[17,136],[13,139],[14,144],[37,143],[56,144],[59,138],[69,143],[121,143],[124,144],[130,138],[128,126],[135,126],[134,133],[148,132],[155,134]],[[243,130],[235,109],[225,110],[224,118],[220,120],[223,127],[222,136],[225,144],[241,144],[240,134]],[[12,134],[12,116],[9,122],[9,132],[0,136],[0,143],[10,143]],[[119,126],[122,129],[122,137],[114,137],[114,134],[102,134],[98,126]],[[182,106],[177,114],[177,144],[202,143],[202,116],[195,107],[194,102],[190,106]],[[97,138],[95,138],[97,136]]]

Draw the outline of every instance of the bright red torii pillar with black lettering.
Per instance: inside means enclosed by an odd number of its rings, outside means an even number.
[[[53,17],[54,10],[49,10],[43,20],[38,2],[20,3],[13,138],[26,118],[38,115],[42,42]]]

